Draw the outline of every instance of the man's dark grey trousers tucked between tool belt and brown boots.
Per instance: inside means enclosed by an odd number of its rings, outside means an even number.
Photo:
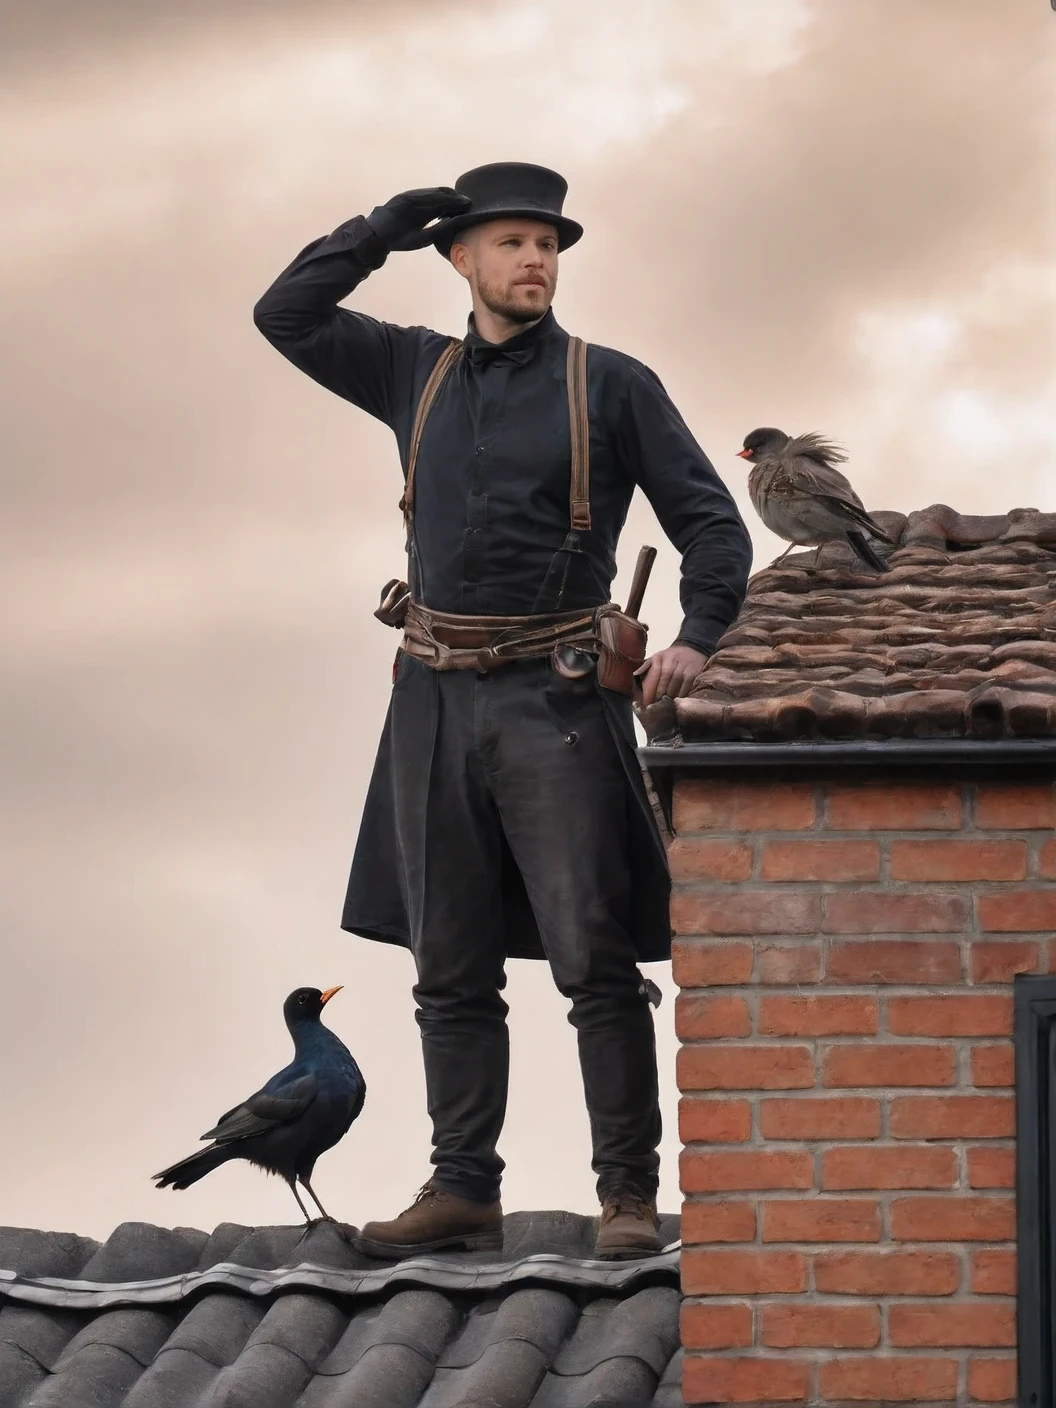
[[[653,1197],[660,1112],[629,934],[634,801],[593,677],[565,680],[549,660],[436,673],[403,656],[391,727],[436,1183],[498,1197],[513,863],[572,1002],[598,1194],[629,1184]]]

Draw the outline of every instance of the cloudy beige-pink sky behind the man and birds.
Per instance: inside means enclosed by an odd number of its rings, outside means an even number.
[[[586,227],[559,321],[652,366],[752,529],[759,424],[870,508],[1056,508],[1056,14],[1046,0],[0,0],[0,1222],[290,1222],[279,1180],[151,1173],[289,1056],[367,1081],[314,1186],[353,1224],[428,1177],[410,956],[338,917],[401,572],[390,432],[252,306],[310,239],[489,161]],[[397,255],[356,294],[459,332]],[[660,546],[643,618],[677,628]],[[676,1209],[672,1008],[660,1202]],[[514,962],[504,1205],[594,1209],[566,1004]]]

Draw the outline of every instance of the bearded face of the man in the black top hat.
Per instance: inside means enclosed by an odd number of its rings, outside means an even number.
[[[558,231],[538,220],[473,225],[452,246],[455,265],[496,317],[535,322],[558,287]]]

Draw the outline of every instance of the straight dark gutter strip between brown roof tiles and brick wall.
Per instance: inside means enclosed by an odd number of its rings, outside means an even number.
[[[801,743],[683,743],[672,741],[639,749],[642,763],[655,774],[662,769],[683,773],[759,772],[819,767],[1031,767],[1056,770],[1056,738],[893,738]]]

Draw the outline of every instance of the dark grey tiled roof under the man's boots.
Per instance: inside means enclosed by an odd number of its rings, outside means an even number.
[[[677,1218],[643,1262],[596,1221],[505,1218],[503,1260],[394,1264],[334,1226],[0,1229],[4,1408],[676,1408]]]

